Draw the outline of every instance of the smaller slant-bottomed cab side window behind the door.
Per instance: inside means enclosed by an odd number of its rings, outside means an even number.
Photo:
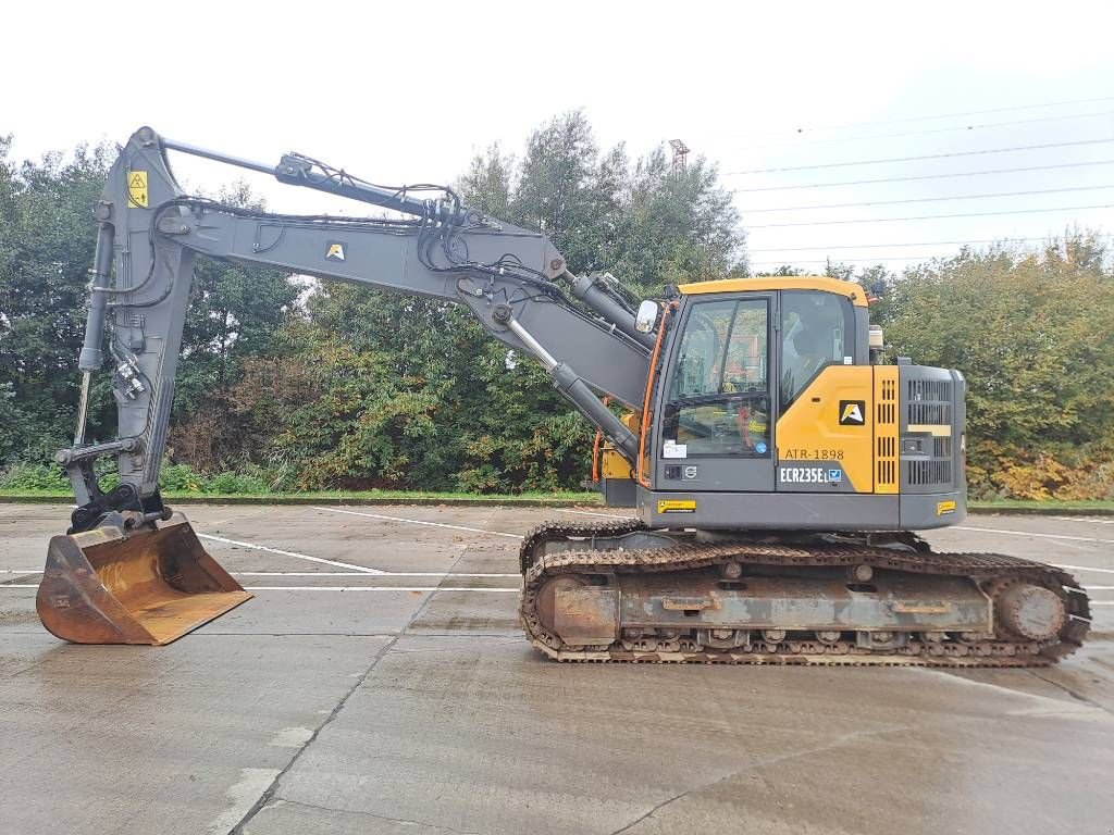
[[[781,295],[781,411],[815,376],[852,356],[851,303],[831,293],[785,291]]]

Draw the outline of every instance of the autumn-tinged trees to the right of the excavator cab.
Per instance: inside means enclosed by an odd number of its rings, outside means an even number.
[[[1006,246],[906,271],[883,324],[898,354],[967,379],[978,492],[1114,494],[1114,276],[1097,238]]]

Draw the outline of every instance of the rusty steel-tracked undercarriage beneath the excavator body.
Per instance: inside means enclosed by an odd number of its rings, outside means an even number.
[[[1039,667],[1091,622],[1064,571],[908,533],[547,523],[520,562],[527,635],[561,661]]]

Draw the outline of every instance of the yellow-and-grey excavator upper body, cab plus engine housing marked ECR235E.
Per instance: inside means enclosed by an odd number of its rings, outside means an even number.
[[[924,530],[962,517],[962,377],[873,364],[862,287],[795,276],[680,289],[642,478],[615,503],[671,529]]]

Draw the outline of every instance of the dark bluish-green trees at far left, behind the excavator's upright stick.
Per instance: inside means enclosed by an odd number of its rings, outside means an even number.
[[[118,153],[79,146],[69,157],[48,154],[17,166],[10,148],[10,137],[0,138],[0,465],[48,460],[72,438],[96,246],[92,209]],[[242,184],[221,198],[260,207]],[[179,422],[207,412],[175,430],[179,442],[192,436],[195,456],[204,448],[207,461],[228,458],[234,441],[246,438],[225,420],[222,397],[245,357],[277,350],[297,293],[278,271],[197,259],[175,400]],[[95,380],[90,440],[115,431],[110,375]]]

